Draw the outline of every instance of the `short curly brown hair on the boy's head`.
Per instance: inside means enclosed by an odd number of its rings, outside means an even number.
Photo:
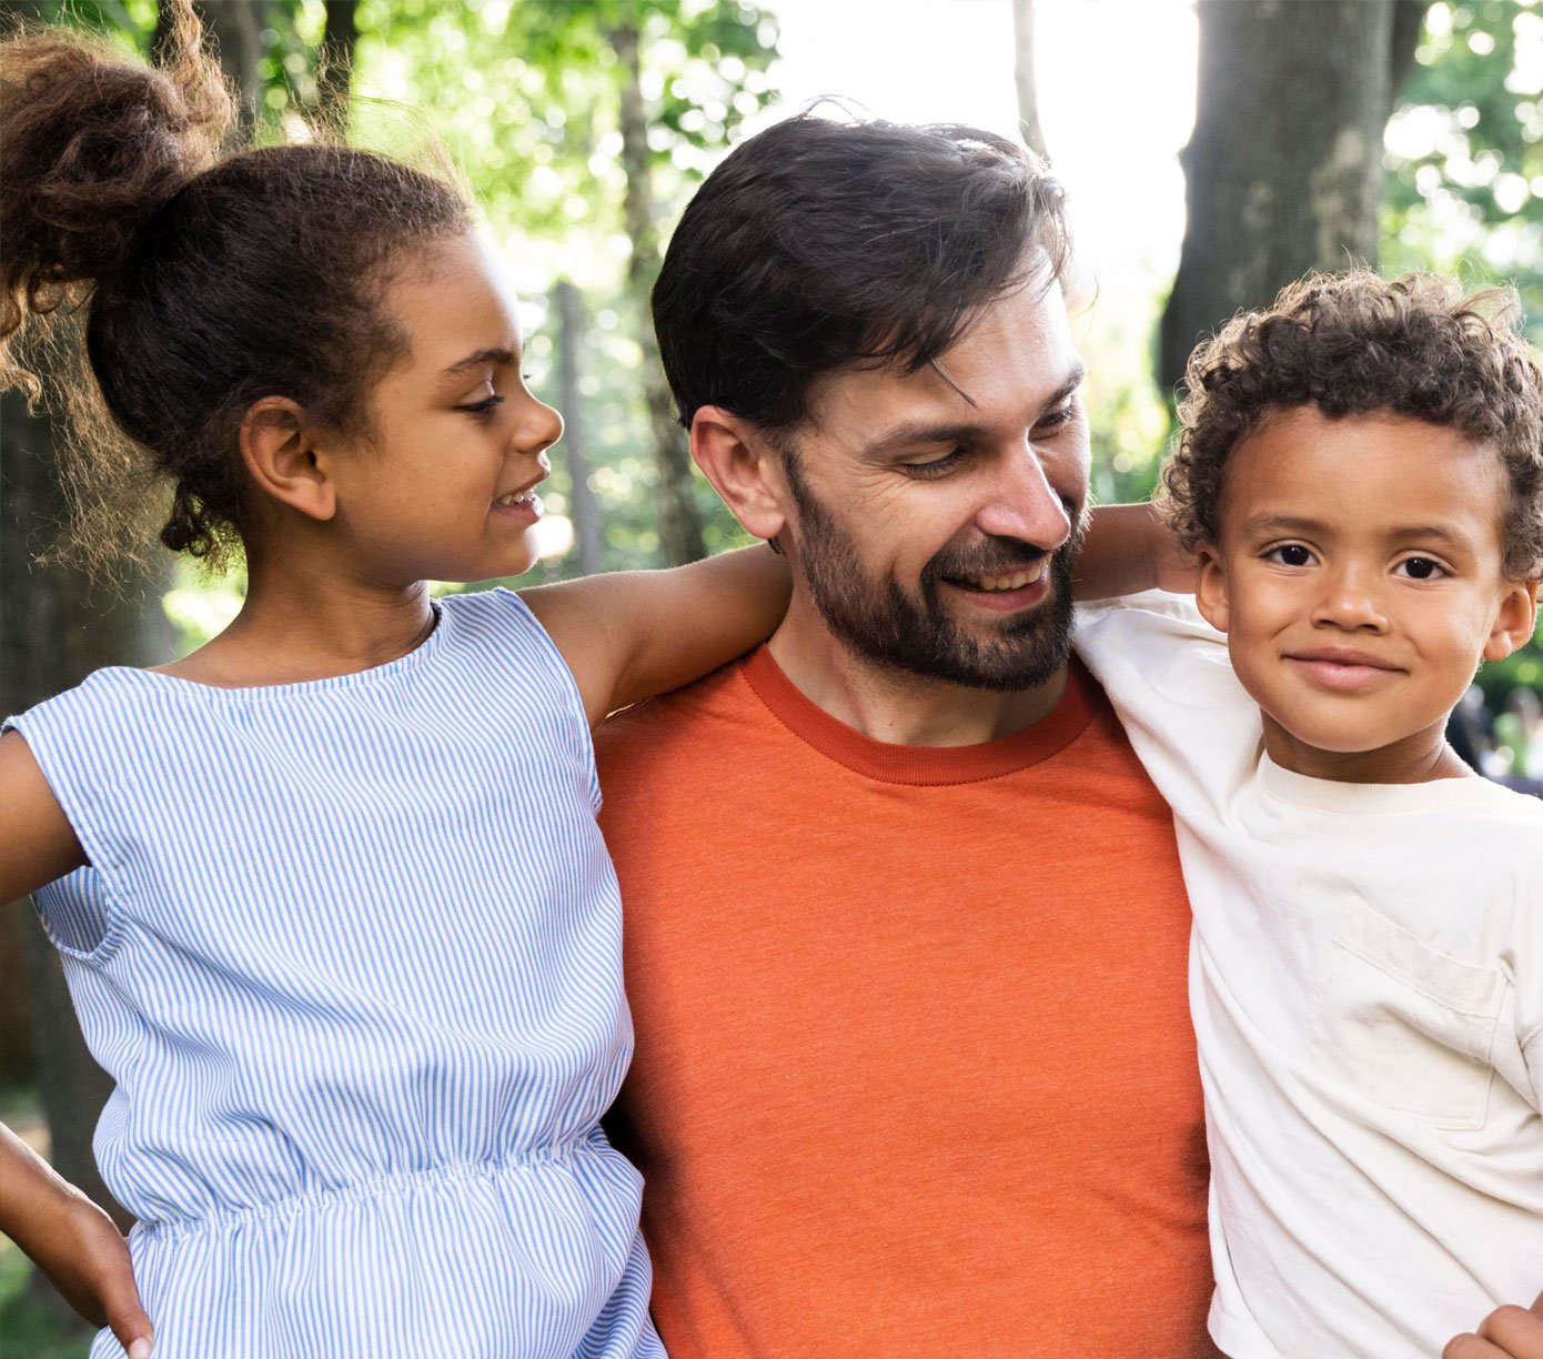
[[[1392,412],[1492,447],[1511,495],[1503,571],[1543,574],[1543,366],[1514,288],[1464,295],[1447,278],[1310,275],[1268,312],[1228,321],[1190,356],[1179,446],[1159,506],[1180,543],[1216,541],[1227,458],[1270,413]]]

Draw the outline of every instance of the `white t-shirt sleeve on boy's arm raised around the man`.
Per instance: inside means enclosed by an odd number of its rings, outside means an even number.
[[[1075,640],[1180,819],[1227,805],[1258,765],[1259,708],[1194,599],[1154,589],[1080,605]]]

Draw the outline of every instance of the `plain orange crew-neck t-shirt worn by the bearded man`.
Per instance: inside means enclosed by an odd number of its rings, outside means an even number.
[[[1214,1353],[1173,824],[1080,665],[918,748],[762,648],[597,745],[671,1359]]]

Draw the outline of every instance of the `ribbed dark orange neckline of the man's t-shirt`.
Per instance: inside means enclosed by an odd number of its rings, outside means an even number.
[[[1060,702],[1032,727],[981,745],[890,745],[832,717],[782,673],[762,645],[745,657],[745,683],[788,731],[839,765],[884,784],[977,784],[1026,770],[1071,745],[1105,702],[1072,659]]]

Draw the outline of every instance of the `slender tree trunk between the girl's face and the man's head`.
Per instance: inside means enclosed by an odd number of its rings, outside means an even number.
[[[639,28],[636,23],[622,25],[608,39],[622,74],[622,170],[626,174],[622,213],[633,247],[626,262],[626,295],[637,344],[643,352],[643,401],[648,406],[648,429],[659,474],[659,541],[665,561],[679,566],[705,557],[707,543],[702,540],[702,514],[696,508],[691,454],[671,409],[670,387],[659,361],[659,341],[648,310],[648,293],[659,273],[659,222],[648,168]]]

